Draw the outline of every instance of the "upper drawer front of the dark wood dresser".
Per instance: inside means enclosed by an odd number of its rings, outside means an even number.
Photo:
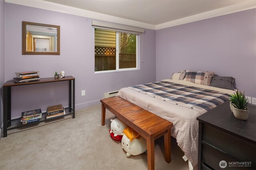
[[[203,124],[202,141],[228,153],[228,155],[240,161],[252,162],[252,167],[256,166],[255,144],[206,124]]]

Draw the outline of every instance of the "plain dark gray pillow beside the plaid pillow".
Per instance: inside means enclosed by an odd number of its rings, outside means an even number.
[[[234,90],[233,83],[234,83],[233,77],[213,76],[210,86],[224,88],[228,90]]]

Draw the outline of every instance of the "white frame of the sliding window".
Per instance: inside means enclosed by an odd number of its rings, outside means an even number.
[[[104,28],[103,28],[104,29]],[[106,29],[107,30],[107,29]],[[116,31],[116,30],[114,30]],[[119,33],[131,33],[131,34],[136,34],[136,67],[134,68],[119,68]],[[141,39],[141,37],[139,37],[140,35],[137,33],[132,33],[132,32],[128,32],[128,31],[116,31],[116,70],[104,70],[104,71],[94,71],[94,73],[104,73],[104,72],[118,72],[118,71],[129,71],[129,70],[140,70],[140,66],[139,66],[139,62],[138,60],[140,60],[140,49],[141,46],[139,45],[139,41]],[[94,45],[95,46],[95,45]],[[95,64],[95,60],[94,60],[94,64]]]

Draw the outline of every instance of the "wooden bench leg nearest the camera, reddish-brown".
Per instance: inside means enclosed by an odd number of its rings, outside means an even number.
[[[155,140],[147,137],[148,170],[155,169]]]

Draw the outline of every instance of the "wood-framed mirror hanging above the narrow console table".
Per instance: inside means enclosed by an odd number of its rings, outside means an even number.
[[[22,21],[22,55],[60,55],[60,26]]]

